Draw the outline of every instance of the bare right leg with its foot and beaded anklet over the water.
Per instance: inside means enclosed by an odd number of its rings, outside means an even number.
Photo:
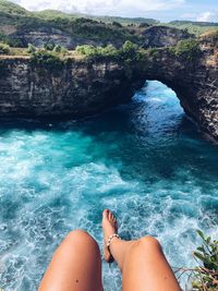
[[[102,228],[106,244],[108,238],[117,231],[116,218],[109,210],[102,214]],[[113,238],[110,253],[122,271],[123,291],[181,290],[156,239],[145,237],[128,242]],[[105,258],[109,258],[107,246]]]

